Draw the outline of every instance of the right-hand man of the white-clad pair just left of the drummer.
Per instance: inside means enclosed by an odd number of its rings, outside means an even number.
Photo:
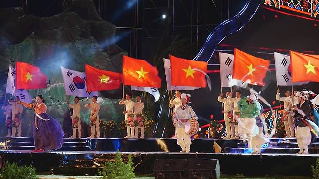
[[[137,125],[134,127],[135,134],[134,138],[138,137],[139,128],[141,129],[141,136],[140,138],[144,138],[144,120],[142,116],[142,111],[144,108],[144,103],[141,102],[141,96],[136,96],[136,103],[134,103],[134,121],[137,121]]]

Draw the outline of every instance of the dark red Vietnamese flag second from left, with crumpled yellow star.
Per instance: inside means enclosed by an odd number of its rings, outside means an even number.
[[[114,90],[120,88],[122,74],[85,64],[85,78],[88,92]]]

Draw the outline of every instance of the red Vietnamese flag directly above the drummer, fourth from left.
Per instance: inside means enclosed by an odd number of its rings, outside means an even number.
[[[170,60],[172,86],[206,87],[203,72],[207,73],[207,62],[186,60],[173,55],[170,55]]]

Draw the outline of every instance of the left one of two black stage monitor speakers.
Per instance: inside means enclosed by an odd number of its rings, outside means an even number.
[[[184,176],[186,159],[156,159],[154,164],[155,179],[182,179]]]

